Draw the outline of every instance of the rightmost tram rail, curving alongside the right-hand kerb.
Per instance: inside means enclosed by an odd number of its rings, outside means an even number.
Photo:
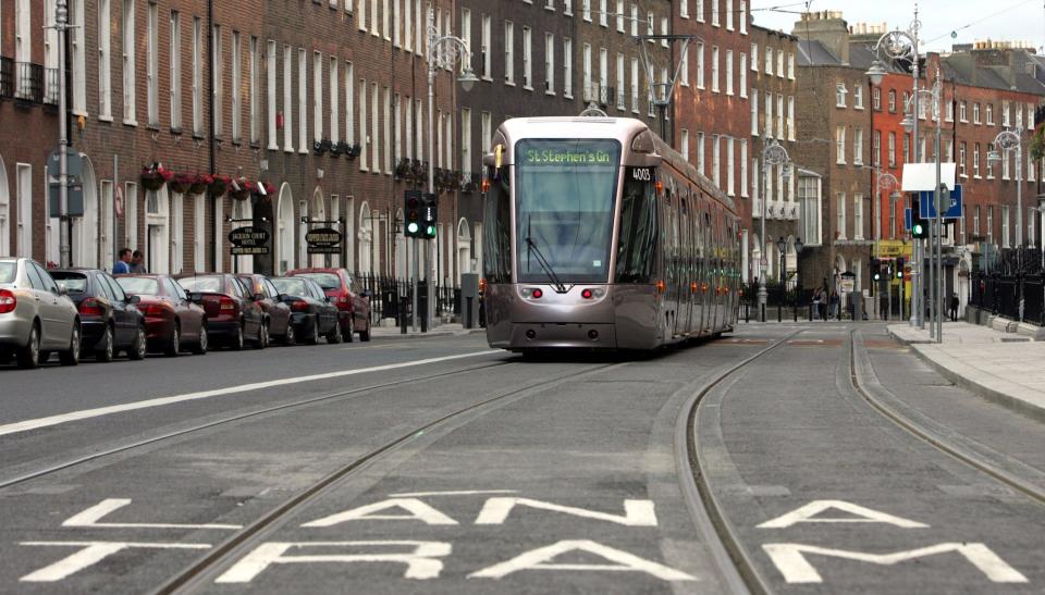
[[[972,444],[971,441],[963,439],[954,431],[948,431],[942,424],[917,411],[901,411],[900,407],[897,406],[898,402],[894,405],[886,402],[887,400],[897,401],[897,399],[878,383],[869,358],[865,356],[858,357],[858,351],[863,349],[857,338],[858,335],[859,331],[850,330],[849,381],[853,391],[872,409],[905,433],[930,445],[935,450],[989,476],[1008,488],[1030,497],[1037,504],[1045,505],[1045,472],[1042,470],[1030,467],[982,444]],[[1028,478],[1035,478],[1036,483],[1028,481]]]

